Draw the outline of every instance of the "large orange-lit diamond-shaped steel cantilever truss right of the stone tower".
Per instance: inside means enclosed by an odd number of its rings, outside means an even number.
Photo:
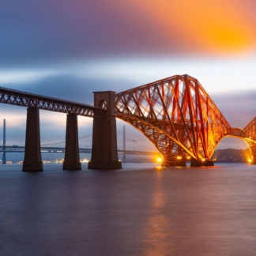
[[[164,156],[210,160],[232,128],[197,79],[173,76],[116,94],[117,117],[140,130]]]

